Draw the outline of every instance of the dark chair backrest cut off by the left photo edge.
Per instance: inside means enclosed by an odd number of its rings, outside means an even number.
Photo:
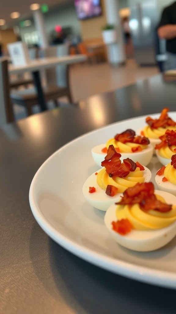
[[[13,108],[10,101],[8,61],[0,58],[0,126],[13,122]]]

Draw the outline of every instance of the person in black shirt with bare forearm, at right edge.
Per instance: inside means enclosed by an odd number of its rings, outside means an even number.
[[[158,36],[166,39],[167,61],[164,69],[176,69],[176,1],[164,8],[158,25]]]

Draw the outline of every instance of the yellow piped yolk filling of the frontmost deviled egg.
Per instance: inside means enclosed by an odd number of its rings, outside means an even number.
[[[156,195],[157,199],[165,203],[162,196]],[[171,211],[161,213],[155,210],[143,211],[139,204],[117,205],[116,217],[118,220],[128,219],[136,230],[161,229],[171,225],[176,220],[176,206]]]

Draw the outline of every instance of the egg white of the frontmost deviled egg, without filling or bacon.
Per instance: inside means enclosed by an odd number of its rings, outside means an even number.
[[[167,192],[155,190],[155,194],[161,195],[166,203],[176,205],[176,197]],[[170,242],[176,235],[176,222],[168,227],[157,230],[131,230],[125,236],[112,230],[112,221],[117,221],[116,205],[112,204],[105,214],[105,225],[113,239],[120,245],[139,252],[149,252],[159,249]]]

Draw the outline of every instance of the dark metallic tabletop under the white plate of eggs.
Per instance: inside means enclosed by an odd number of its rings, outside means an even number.
[[[0,128],[0,313],[175,313],[176,291],[98,268],[52,241],[35,221],[30,183],[62,145],[129,117],[175,111],[161,75]]]

